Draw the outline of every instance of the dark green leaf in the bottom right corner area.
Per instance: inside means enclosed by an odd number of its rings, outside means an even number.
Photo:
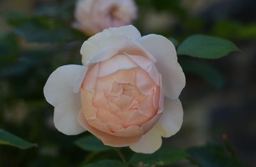
[[[191,161],[204,167],[242,167],[236,157],[223,147],[223,145],[208,143],[203,147],[192,147],[188,149]]]

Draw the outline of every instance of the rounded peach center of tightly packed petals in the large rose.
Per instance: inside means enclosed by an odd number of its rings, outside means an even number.
[[[113,61],[111,59],[108,61]],[[108,76],[104,76],[111,68],[106,67],[108,62],[97,63],[81,87],[86,122],[113,136],[145,134],[149,129],[141,126],[152,120],[159,109],[159,86],[131,59],[127,61],[131,61],[131,68],[118,69]]]

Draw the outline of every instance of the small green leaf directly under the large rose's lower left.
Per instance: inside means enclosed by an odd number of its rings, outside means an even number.
[[[84,138],[77,139],[75,144],[86,151],[107,151],[111,147],[106,146],[99,139],[94,136],[86,136]]]

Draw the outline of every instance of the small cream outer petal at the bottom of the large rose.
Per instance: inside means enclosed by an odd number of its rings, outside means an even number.
[[[153,127],[150,131],[144,134],[138,143],[134,143],[130,148],[134,152],[152,154],[156,152],[162,145],[161,134],[158,129]]]

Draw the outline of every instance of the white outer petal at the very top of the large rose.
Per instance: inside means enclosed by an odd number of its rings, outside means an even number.
[[[115,44],[102,44],[102,40],[109,36],[125,36],[126,38],[131,38],[132,40],[138,40],[141,37],[140,31],[134,26],[122,26],[120,28],[108,28],[104,31],[93,35],[91,38],[86,40],[81,47],[81,54],[83,56],[83,64],[92,58],[93,55],[104,50],[106,47],[115,47],[118,43]]]

